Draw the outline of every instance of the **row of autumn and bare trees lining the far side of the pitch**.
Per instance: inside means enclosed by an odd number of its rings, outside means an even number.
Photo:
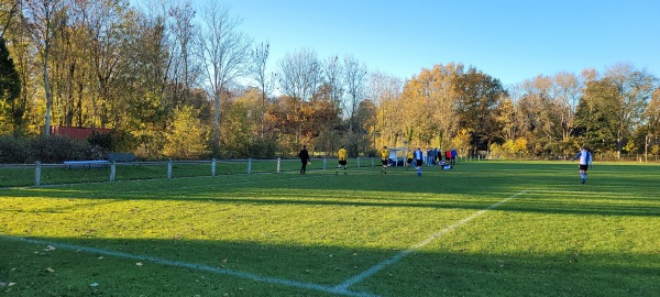
[[[165,2],[0,0],[0,134],[110,128],[109,150],[148,158],[286,156],[302,144],[660,153],[658,78],[630,64],[507,87],[459,63],[402,79],[311,48],[271,69],[270,43],[242,33],[228,7]]]

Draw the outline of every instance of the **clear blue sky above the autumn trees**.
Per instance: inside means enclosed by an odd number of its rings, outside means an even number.
[[[194,0],[196,8],[204,1]],[[212,0],[210,0],[212,1]],[[227,0],[241,31],[270,41],[272,70],[287,52],[351,54],[371,70],[410,78],[451,62],[505,86],[537,75],[604,72],[631,63],[660,76],[660,1]],[[199,14],[198,14],[199,15]]]

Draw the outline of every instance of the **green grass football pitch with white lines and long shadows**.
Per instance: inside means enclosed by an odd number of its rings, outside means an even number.
[[[0,189],[0,292],[659,296],[658,165],[332,165]]]

